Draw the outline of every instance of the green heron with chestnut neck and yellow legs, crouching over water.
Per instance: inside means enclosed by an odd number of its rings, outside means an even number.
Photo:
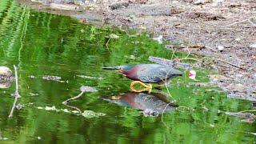
[[[170,78],[176,76],[182,76],[182,72],[175,70],[170,66],[163,66],[159,64],[138,64],[135,66],[112,66],[112,67],[103,67],[105,70],[118,70],[121,74],[125,75],[127,78],[134,80],[130,84],[130,89],[135,92],[150,91],[152,90],[152,85],[147,86],[146,83],[158,83],[162,84],[166,81],[169,81]],[[135,90],[135,84],[141,84],[146,88],[143,90]]]

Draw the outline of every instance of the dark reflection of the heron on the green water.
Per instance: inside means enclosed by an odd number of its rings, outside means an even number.
[[[99,97],[108,102],[116,103],[120,106],[131,106],[138,110],[143,110],[145,116],[157,117],[158,114],[168,113],[175,110],[178,106],[168,102],[163,94],[145,94],[127,92],[111,97]]]

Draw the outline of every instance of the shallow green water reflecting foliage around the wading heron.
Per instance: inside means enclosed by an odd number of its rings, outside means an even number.
[[[108,42],[110,34],[119,38]],[[0,66],[12,70],[13,65],[18,66],[22,95],[18,103],[26,107],[8,118],[15,86],[0,90],[0,134],[7,138],[0,143],[254,143],[255,136],[250,133],[256,131],[255,122],[241,122],[242,118],[224,113],[248,110],[250,102],[226,98],[216,88],[195,86],[185,77],[174,78],[170,94],[189,110],[174,110],[162,118],[145,117],[134,108],[98,99],[126,93],[130,85],[130,80],[116,71],[102,70],[102,66],[150,63],[151,55],[171,58],[170,51],[149,37],[84,25],[1,0]],[[61,77],[63,82],[47,81],[42,78],[46,75]],[[205,70],[198,71],[198,80],[207,82]],[[38,109],[67,109],[62,102],[78,95],[80,86],[93,86],[98,92],[83,94],[70,104],[106,115],[85,118]]]

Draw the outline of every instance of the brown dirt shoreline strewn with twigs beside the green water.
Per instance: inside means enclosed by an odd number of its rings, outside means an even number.
[[[150,31],[161,35],[159,40],[183,43],[166,47],[207,56],[209,59],[199,59],[198,64],[218,71],[210,74],[211,82],[226,90],[230,98],[256,101],[254,0],[17,1],[34,10],[69,15],[81,22]]]

